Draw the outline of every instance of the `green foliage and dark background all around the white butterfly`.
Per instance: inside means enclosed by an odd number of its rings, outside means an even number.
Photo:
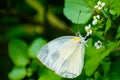
[[[68,80],[36,56],[48,41],[73,35],[78,24],[81,35],[88,33],[89,24],[92,34],[85,46],[84,69],[74,80],[119,80],[120,3],[100,1],[105,6],[99,10],[95,8],[98,0],[1,0],[0,80]],[[96,49],[98,40],[102,47]]]

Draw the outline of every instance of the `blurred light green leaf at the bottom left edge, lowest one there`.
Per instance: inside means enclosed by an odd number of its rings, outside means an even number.
[[[14,67],[8,74],[10,80],[21,80],[26,76],[25,67]]]

